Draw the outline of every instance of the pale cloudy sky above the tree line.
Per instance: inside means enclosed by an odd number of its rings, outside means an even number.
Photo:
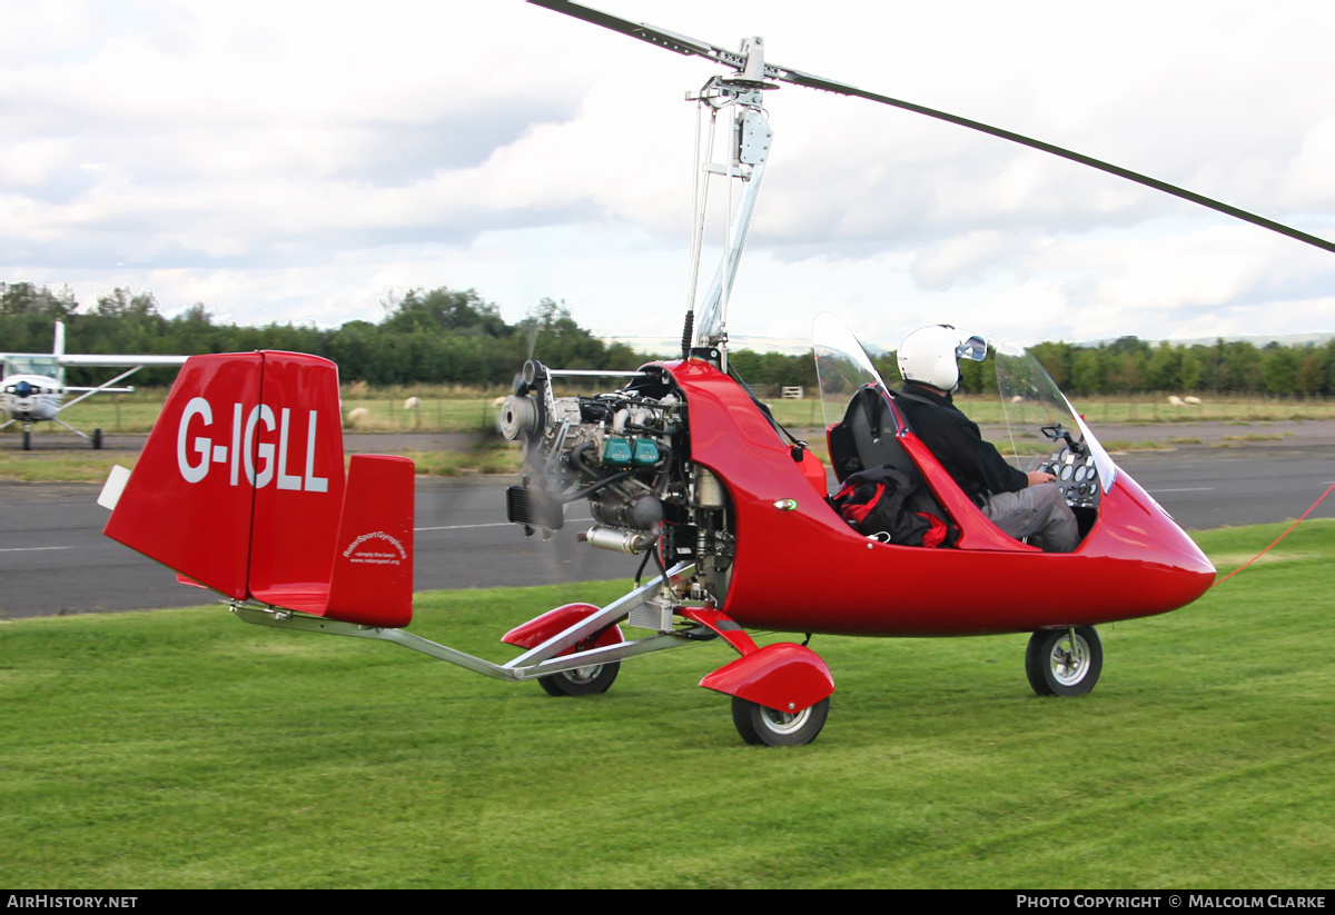
[[[1335,239],[1326,0],[591,5],[728,48],[761,35],[770,63]],[[709,61],[519,0],[0,17],[0,281],[320,327],[449,285],[511,321],[550,296],[599,335],[680,335],[684,96]],[[809,337],[821,311],[888,347],[932,323],[1021,343],[1335,331],[1328,252],[869,101],[785,87],[766,105],[736,335]]]

